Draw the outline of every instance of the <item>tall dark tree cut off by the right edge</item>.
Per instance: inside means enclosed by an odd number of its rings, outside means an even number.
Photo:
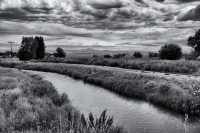
[[[187,45],[192,47],[194,52],[200,55],[200,29],[194,36],[190,36],[187,41]]]

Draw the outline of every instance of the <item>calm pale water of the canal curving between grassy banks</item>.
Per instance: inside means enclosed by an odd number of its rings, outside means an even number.
[[[88,116],[99,116],[107,109],[114,124],[129,133],[200,133],[200,117],[180,115],[148,102],[128,99],[101,87],[85,84],[68,76],[33,72],[53,83],[60,93],[67,93],[72,105]]]

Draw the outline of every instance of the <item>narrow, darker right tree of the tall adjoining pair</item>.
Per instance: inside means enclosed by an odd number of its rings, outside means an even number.
[[[43,59],[45,57],[45,44],[44,44],[44,39],[43,37],[35,37],[35,40],[38,41],[38,47],[36,50],[36,57],[35,59]]]

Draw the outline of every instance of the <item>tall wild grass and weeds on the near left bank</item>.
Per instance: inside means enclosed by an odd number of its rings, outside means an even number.
[[[103,111],[88,118],[75,110],[66,94],[37,75],[0,68],[0,132],[122,133]]]

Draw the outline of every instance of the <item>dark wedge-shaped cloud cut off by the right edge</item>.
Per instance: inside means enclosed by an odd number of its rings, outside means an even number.
[[[196,6],[196,8],[189,10],[186,14],[180,15],[177,20],[179,21],[200,21],[200,4]]]

